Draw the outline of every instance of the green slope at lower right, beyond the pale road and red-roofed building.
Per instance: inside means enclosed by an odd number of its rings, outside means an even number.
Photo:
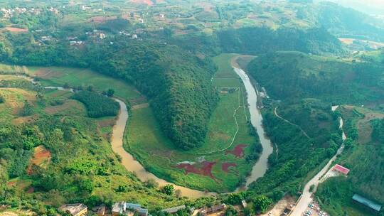
[[[384,114],[351,106],[341,107],[341,114],[348,144],[336,163],[351,171],[347,178],[326,180],[316,196],[331,215],[375,215],[351,198],[358,193],[381,205],[384,202]]]

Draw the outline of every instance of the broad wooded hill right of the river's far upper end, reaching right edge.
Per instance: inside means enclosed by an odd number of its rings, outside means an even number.
[[[321,98],[336,103],[380,102],[383,66],[297,52],[267,53],[247,70],[277,99]]]

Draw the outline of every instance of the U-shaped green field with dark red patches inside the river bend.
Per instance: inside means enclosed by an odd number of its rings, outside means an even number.
[[[250,172],[255,146],[246,106],[246,92],[230,67],[235,55],[214,58],[219,70],[212,82],[220,92],[203,146],[179,151],[164,136],[151,107],[132,109],[124,148],[151,173],[178,185],[217,192],[233,191]],[[236,120],[238,121],[238,132]],[[256,156],[257,157],[257,156]]]

